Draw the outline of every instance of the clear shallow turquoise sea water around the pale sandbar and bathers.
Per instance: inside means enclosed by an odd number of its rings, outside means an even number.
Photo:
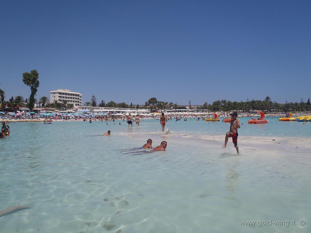
[[[221,119],[221,118],[220,118]],[[248,125],[239,135],[306,138],[311,123]],[[271,120],[268,118],[268,120]],[[121,123],[121,126],[119,125]],[[0,140],[0,232],[310,232],[308,151],[240,147],[178,135],[224,135],[229,123],[159,121],[10,123]],[[100,135],[111,130],[111,136]],[[153,146],[142,155],[120,149]],[[241,226],[239,221],[296,226]],[[304,220],[305,225],[299,225]]]

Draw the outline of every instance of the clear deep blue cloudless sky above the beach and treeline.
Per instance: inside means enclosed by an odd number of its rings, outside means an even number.
[[[310,95],[311,1],[1,1],[0,88],[99,103]]]

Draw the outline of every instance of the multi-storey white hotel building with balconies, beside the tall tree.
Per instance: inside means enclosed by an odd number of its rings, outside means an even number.
[[[72,92],[68,89],[57,89],[56,91],[50,91],[50,102],[54,100],[63,102],[67,100],[68,104],[72,104],[73,107],[78,108],[82,106],[82,95],[78,92]]]

